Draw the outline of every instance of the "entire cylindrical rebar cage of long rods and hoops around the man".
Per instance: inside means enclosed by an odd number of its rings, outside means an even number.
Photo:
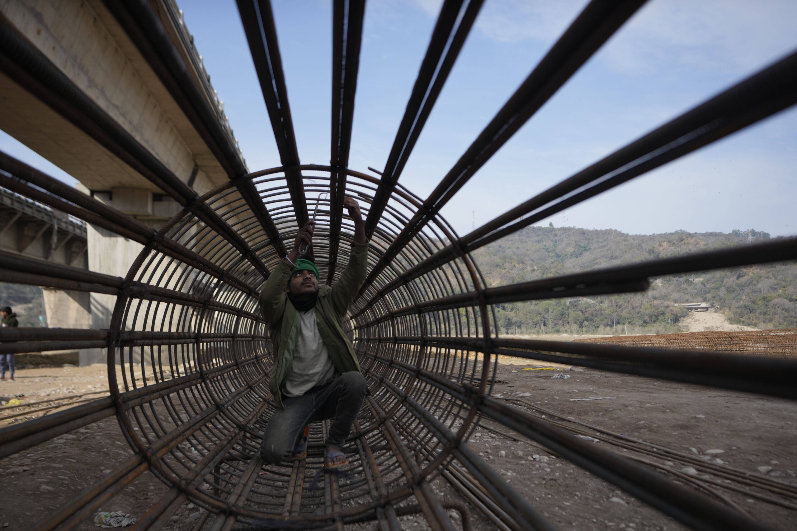
[[[245,169],[218,112],[186,73],[151,2],[105,2],[230,176],[202,197],[0,18],[2,72],[183,206],[155,231],[0,154],[3,187],[143,245],[124,279],[0,253],[3,278],[11,282],[116,295],[109,330],[0,330],[2,353],[107,348],[110,391],[99,400],[2,428],[0,456],[108,416],[116,416],[135,452],[33,529],[72,529],[145,470],[169,490],[139,518],[137,530],[160,529],[190,500],[206,508],[196,529],[232,529],[236,522],[260,529],[344,529],[375,520],[379,529],[398,531],[397,517],[414,511],[432,529],[453,531],[448,510],[466,510],[435,496],[430,480],[440,474],[479,484],[489,498],[482,498],[482,506],[489,503],[507,529],[553,529],[469,447],[481,417],[541,443],[694,529],[768,529],[491,396],[491,375],[497,355],[505,354],[794,399],[793,359],[499,338],[493,305],[644,291],[650,276],[794,260],[795,239],[502,287],[486,285],[469,253],[790,107],[797,102],[797,54],[459,236],[440,209],[644,4],[590,2],[423,199],[398,178],[481,3],[443,3],[391,154],[375,178],[347,167],[363,0],[334,2],[330,166],[300,165],[271,6],[267,0],[239,0],[281,156],[280,167],[255,173]],[[344,448],[351,474],[324,472],[324,423],[311,427],[307,459],[266,467],[258,450],[274,407],[267,381],[273,357],[257,295],[285,257],[286,244],[308,221],[308,202],[318,205],[314,253],[320,280],[335,282],[353,238],[343,209],[346,196],[362,205],[370,238],[369,274],[347,321],[369,386]],[[123,366],[122,381],[117,363]],[[307,488],[314,477],[323,489]],[[410,504],[412,498],[417,505]],[[463,524],[469,525],[465,516]]]

